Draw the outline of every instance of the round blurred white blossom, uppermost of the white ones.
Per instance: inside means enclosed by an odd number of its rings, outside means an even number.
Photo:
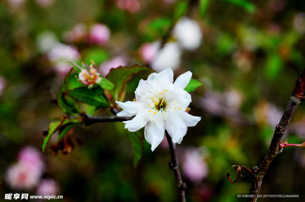
[[[195,50],[201,44],[202,32],[196,20],[183,17],[176,23],[173,36],[177,38],[182,48]]]

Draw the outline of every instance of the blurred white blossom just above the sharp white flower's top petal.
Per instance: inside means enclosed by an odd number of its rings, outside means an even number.
[[[177,42],[169,42],[164,45],[156,55],[155,60],[152,62],[152,69],[160,72],[166,67],[176,70],[181,62],[181,48]]]

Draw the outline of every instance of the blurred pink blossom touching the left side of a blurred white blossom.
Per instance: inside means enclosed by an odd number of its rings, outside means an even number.
[[[158,50],[160,49],[160,45],[160,42],[156,41],[153,43],[144,43],[140,47],[139,53],[146,63],[152,63],[158,53]]]

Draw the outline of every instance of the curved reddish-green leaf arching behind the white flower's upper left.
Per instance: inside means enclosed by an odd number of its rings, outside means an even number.
[[[125,97],[125,91],[127,83],[137,74],[142,71],[154,71],[148,67],[141,67],[138,64],[132,67],[118,67],[116,69],[111,69],[107,75],[107,79],[111,81],[116,88],[113,89],[111,94],[115,100],[123,101]]]

